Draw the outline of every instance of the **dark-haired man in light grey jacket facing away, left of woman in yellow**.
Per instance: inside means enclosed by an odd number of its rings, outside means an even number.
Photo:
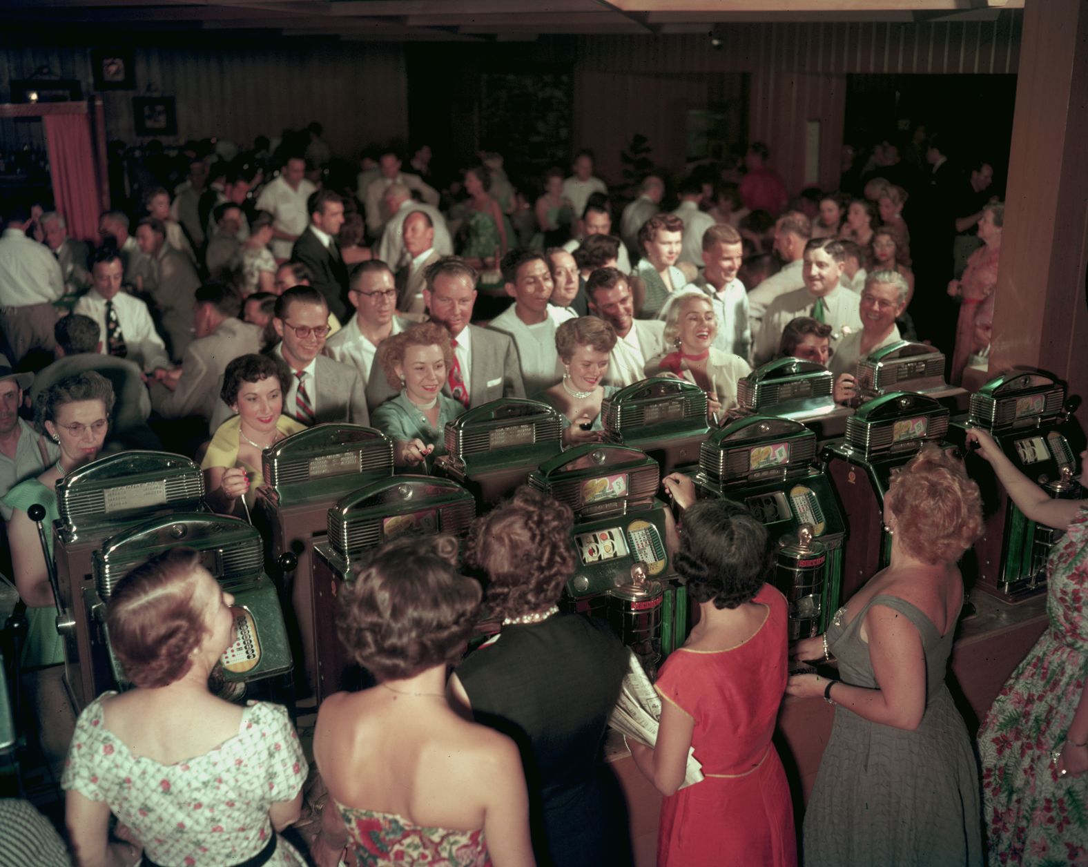
[[[238,319],[242,296],[233,287],[209,283],[195,294],[196,339],[182,356],[182,374],[151,386],[151,406],[164,419],[212,418],[223,371],[238,356],[261,350],[261,330]]]

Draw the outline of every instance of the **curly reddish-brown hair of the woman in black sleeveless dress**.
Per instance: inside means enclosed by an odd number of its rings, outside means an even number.
[[[574,571],[570,507],[522,485],[472,525],[467,560],[483,569],[487,607],[518,617],[553,605]]]

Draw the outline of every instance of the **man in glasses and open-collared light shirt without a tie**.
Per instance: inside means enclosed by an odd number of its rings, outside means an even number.
[[[351,272],[347,297],[355,307],[355,315],[329,337],[324,354],[333,361],[354,364],[366,388],[379,344],[399,334],[411,322],[396,314],[393,272],[380,259],[363,262]]]

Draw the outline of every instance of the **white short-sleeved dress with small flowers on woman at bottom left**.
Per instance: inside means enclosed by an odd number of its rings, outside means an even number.
[[[306,781],[307,763],[295,727],[280,705],[245,708],[238,733],[202,756],[161,765],[138,756],[107,728],[102,699],[76,721],[61,788],[104,801],[158,864],[238,864],[273,833],[269,807],[290,801]],[[304,865],[282,838],[269,862]]]

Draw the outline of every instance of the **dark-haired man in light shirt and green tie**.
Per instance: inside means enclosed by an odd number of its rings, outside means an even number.
[[[763,318],[753,349],[755,367],[770,361],[781,343],[782,331],[796,317],[812,317],[831,326],[831,346],[862,327],[857,296],[840,283],[844,253],[834,238],[813,238],[805,245],[802,278],[804,285],[780,295]]]

